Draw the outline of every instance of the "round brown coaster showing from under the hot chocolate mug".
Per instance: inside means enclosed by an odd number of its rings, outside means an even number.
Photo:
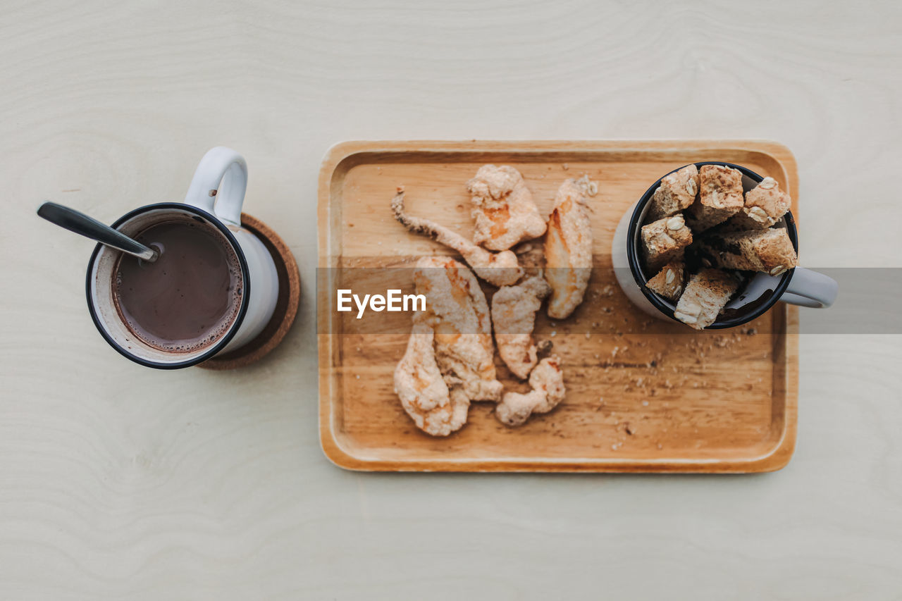
[[[257,337],[244,347],[236,348],[228,353],[221,353],[198,365],[204,369],[237,369],[259,361],[273,348],[279,346],[298,314],[300,273],[288,245],[260,219],[246,213],[241,214],[241,226],[260,238],[260,241],[272,254],[272,261],[276,264],[276,273],[279,274],[279,299],[276,301],[276,309],[272,312],[272,318]]]

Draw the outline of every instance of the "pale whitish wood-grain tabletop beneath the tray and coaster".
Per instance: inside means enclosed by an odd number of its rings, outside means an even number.
[[[777,140],[802,263],[902,266],[900,30],[891,0],[4,2],[0,598],[896,599],[899,337],[800,337],[773,474],[365,474],[319,448],[314,307],[354,139]],[[93,245],[34,209],[181,199],[217,144],[299,316],[244,370],[143,370],[87,315]]]

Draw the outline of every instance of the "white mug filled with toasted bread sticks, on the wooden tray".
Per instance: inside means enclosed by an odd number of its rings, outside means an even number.
[[[777,301],[829,307],[836,282],[797,266],[791,204],[777,180],[741,165],[671,171],[614,232],[617,282],[641,310],[695,329],[739,326]]]

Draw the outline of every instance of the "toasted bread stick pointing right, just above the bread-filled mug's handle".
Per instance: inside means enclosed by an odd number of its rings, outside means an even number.
[[[702,248],[724,269],[742,269],[779,275],[796,266],[796,249],[785,227],[750,232],[712,233]]]

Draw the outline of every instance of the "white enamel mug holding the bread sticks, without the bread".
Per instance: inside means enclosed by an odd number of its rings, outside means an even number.
[[[741,171],[742,189],[746,192],[764,179],[758,173],[730,162],[696,162],[695,165],[698,167],[726,165]],[[649,290],[646,285],[648,279],[643,273],[640,262],[641,224],[645,219],[652,195],[658,189],[661,180],[667,175],[669,173],[665,173],[652,184],[649,190],[623,214],[614,232],[611,252],[614,275],[627,298],[649,315],[659,319],[676,320],[674,317],[675,304]],[[796,221],[792,213],[787,212],[774,227],[787,229],[787,235],[798,253]],[[826,308],[836,300],[838,288],[833,278],[804,267],[796,267],[779,275],[756,273],[745,287],[727,303],[721,316],[707,329],[733,328],[747,323],[769,310],[777,301],[802,307]]]

